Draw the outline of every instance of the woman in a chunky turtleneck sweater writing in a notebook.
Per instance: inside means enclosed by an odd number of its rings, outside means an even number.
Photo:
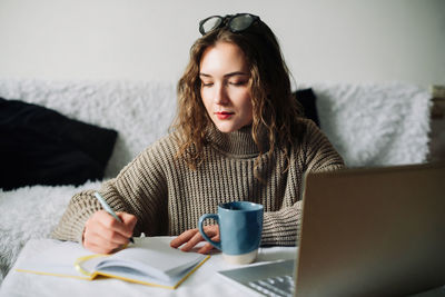
[[[178,83],[172,131],[142,151],[99,190],[121,221],[101,210],[92,190],[70,201],[53,236],[111,253],[131,236],[177,236],[190,250],[204,214],[218,204],[264,205],[261,245],[295,245],[306,171],[336,170],[343,160],[309,120],[300,118],[287,67],[259,17],[210,17]],[[218,227],[206,232],[218,240]],[[208,253],[209,244],[199,253]]]

